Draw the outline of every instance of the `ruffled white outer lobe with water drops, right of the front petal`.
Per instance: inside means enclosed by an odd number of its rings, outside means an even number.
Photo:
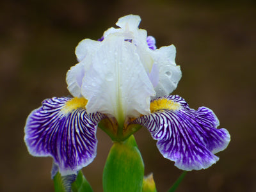
[[[155,88],[156,97],[169,95],[175,90],[181,78],[180,67],[175,63],[175,46],[161,47],[152,51],[152,54],[154,63],[159,67],[159,83]]]

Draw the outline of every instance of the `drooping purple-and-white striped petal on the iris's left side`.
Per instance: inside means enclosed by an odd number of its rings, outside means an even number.
[[[67,106],[68,97],[45,99],[30,113],[25,126],[25,143],[33,156],[51,156],[62,176],[76,174],[96,156],[97,123],[100,113]],[[73,103],[74,104],[74,103]]]

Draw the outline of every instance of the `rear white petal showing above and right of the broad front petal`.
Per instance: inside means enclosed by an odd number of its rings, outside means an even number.
[[[160,47],[156,50],[150,49],[147,44],[147,31],[138,28],[140,21],[138,15],[121,17],[116,22],[116,26],[120,28],[109,28],[104,33],[104,38],[110,34],[122,33],[127,40],[136,45],[141,63],[143,63],[148,74],[151,74],[150,80],[154,84],[156,97],[169,95],[177,88],[181,78],[180,67],[175,63],[176,49],[174,45]],[[152,72],[152,70],[154,71]],[[155,86],[155,84],[157,85]]]

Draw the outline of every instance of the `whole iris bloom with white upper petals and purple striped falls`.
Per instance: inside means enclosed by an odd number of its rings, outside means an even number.
[[[138,28],[140,20],[127,15],[100,40],[82,40],[76,47],[79,63],[67,72],[73,97],[45,99],[28,116],[29,153],[51,156],[61,175],[92,163],[98,125],[117,142],[147,128],[159,152],[182,170],[208,168],[227,147],[230,135],[217,129],[211,109],[191,109],[170,95],[181,77],[175,47],[156,49],[154,37]]]

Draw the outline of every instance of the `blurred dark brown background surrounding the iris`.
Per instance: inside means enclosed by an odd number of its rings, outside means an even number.
[[[0,3],[0,191],[53,191],[50,157],[32,157],[24,124],[42,100],[69,95],[65,74],[76,64],[83,38],[97,40],[119,17],[141,16],[140,27],[157,47],[174,44],[182,68],[175,94],[191,108],[207,106],[232,140],[220,161],[186,175],[177,191],[256,191],[255,64],[253,1],[1,1]],[[135,134],[158,191],[182,173],[164,159],[145,129]],[[111,140],[99,130],[97,157],[83,169],[94,191]]]

